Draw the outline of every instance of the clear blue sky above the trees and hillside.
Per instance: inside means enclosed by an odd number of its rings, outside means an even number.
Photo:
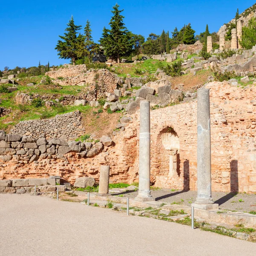
[[[243,12],[253,0],[13,0],[0,4],[0,70],[59,65],[69,60],[59,59],[55,48],[58,35],[64,33],[73,15],[77,25],[85,26],[90,20],[93,39],[98,41],[104,26],[108,26],[112,6],[124,9],[125,24],[135,33],[160,34],[163,29],[173,31],[191,23],[196,34],[203,32],[208,23],[210,32],[218,31],[234,18],[236,9]]]

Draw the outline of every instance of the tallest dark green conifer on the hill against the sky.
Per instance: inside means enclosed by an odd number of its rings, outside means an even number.
[[[116,59],[119,63],[121,56],[131,54],[134,41],[132,33],[128,31],[125,23],[123,23],[124,16],[121,15],[123,10],[119,10],[119,5],[116,4],[111,12],[113,13],[109,23],[111,29],[104,27],[99,42],[104,47],[106,55]]]

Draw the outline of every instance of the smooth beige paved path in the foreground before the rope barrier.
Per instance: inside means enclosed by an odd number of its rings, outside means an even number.
[[[0,194],[3,256],[255,256],[256,244],[153,218]]]

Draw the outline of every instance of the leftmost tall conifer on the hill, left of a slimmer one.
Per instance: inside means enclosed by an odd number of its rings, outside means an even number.
[[[77,32],[80,29],[81,26],[75,25],[72,16],[69,23],[67,23],[64,36],[59,35],[61,40],[58,40],[55,47],[59,58],[71,59],[72,63],[75,64],[79,57],[84,55],[84,47],[81,47],[84,42],[84,36],[81,34],[77,36]],[[82,38],[83,40],[81,40]]]

